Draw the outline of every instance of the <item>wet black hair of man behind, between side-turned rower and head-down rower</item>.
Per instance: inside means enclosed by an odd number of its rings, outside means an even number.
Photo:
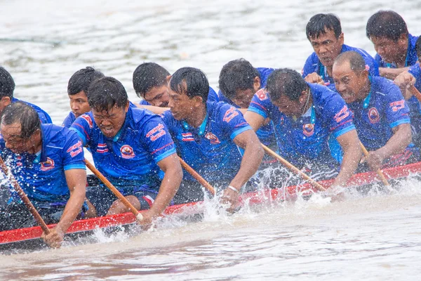
[[[254,91],[255,77],[261,78],[260,73],[248,60],[243,58],[231,60],[222,67],[220,72],[220,91],[225,97],[232,100],[235,98],[237,91],[246,91],[248,89]]]

